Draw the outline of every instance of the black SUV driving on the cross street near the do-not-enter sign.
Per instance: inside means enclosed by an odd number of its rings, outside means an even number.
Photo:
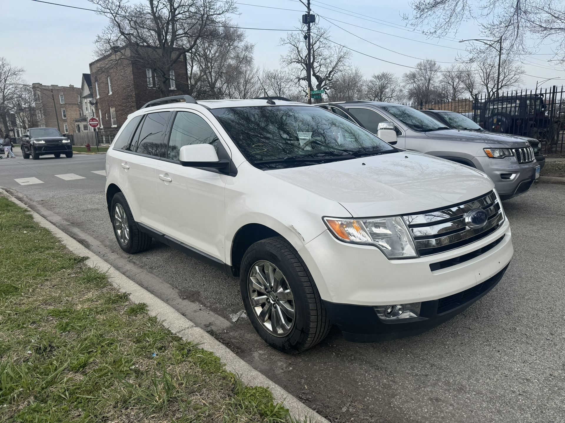
[[[29,128],[25,131],[21,136],[21,155],[37,160],[46,154],[72,157],[71,141],[56,128]]]

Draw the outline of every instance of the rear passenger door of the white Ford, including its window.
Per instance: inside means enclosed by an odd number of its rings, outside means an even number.
[[[120,162],[133,218],[158,231],[163,228],[163,220],[157,192],[157,164],[163,156],[171,114],[169,111],[145,114]]]

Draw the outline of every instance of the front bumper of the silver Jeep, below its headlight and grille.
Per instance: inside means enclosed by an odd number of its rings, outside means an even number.
[[[518,163],[515,157],[475,157],[473,164],[494,182],[501,200],[508,200],[528,191],[534,182],[538,161]]]

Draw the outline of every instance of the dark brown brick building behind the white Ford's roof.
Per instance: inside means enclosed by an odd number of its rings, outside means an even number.
[[[129,49],[123,47],[90,63],[94,108],[100,121],[99,138],[103,143],[114,138],[128,114],[161,97],[155,70],[139,60],[129,59],[130,55]],[[169,95],[181,95],[186,82],[186,58],[182,55],[167,82]]]

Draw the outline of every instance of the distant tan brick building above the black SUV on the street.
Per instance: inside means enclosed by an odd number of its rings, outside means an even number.
[[[42,85],[37,82],[32,83],[32,87],[38,126],[57,128],[63,134],[74,134],[75,119],[82,114],[80,88],[73,85]]]

